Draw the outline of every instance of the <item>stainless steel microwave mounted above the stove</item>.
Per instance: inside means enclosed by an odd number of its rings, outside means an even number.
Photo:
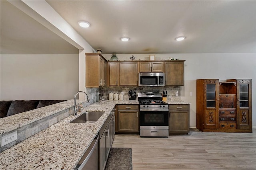
[[[164,86],[164,72],[140,72],[140,86]]]

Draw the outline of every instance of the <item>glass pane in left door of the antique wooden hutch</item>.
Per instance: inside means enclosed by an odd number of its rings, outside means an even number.
[[[206,107],[216,107],[216,84],[206,84]]]

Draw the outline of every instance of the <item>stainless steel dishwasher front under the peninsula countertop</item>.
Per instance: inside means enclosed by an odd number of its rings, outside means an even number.
[[[94,138],[75,170],[98,170],[98,141],[99,135]]]

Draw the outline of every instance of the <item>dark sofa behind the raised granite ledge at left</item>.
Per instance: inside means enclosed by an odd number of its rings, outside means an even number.
[[[0,118],[64,101],[66,100],[3,100],[0,101]]]

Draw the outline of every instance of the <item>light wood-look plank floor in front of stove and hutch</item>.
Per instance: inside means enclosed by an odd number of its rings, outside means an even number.
[[[210,133],[190,129],[168,138],[115,135],[112,147],[132,148],[133,170],[256,170],[253,133]]]

